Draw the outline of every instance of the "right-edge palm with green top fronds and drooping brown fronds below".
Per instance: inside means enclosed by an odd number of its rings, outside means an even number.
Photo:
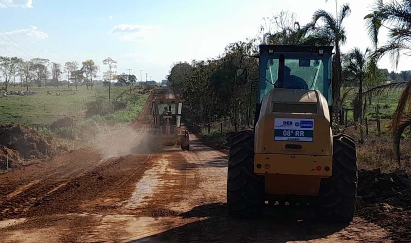
[[[369,36],[376,48],[372,58],[377,61],[383,55],[389,54],[393,66],[397,68],[401,54],[411,56],[411,0],[391,0],[385,3],[377,0],[372,11],[364,17],[367,21]],[[378,33],[381,27],[388,30],[389,39],[387,43],[378,47]],[[390,77],[395,80],[396,75],[390,73]],[[401,165],[399,151],[401,135],[405,128],[411,125],[411,80],[406,79],[404,75],[404,82],[382,85],[367,91],[369,95],[380,95],[392,89],[404,89],[390,125],[399,165]]]

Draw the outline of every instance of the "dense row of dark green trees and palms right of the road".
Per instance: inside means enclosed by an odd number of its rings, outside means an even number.
[[[253,111],[249,110],[249,104],[256,100],[255,90],[250,94],[250,89],[238,88],[234,83],[241,55],[257,54],[259,44],[333,45],[333,121],[342,122],[341,110],[346,88],[358,87],[355,119],[361,122],[363,108],[367,101],[371,102],[371,96],[364,99],[364,95],[373,93],[371,91],[375,87],[385,85],[387,81],[405,83],[410,79],[411,73],[388,72],[377,66],[378,60],[384,55],[391,58],[395,67],[401,54],[411,53],[411,1],[376,1],[371,8],[371,13],[364,17],[364,21],[374,46],[365,51],[355,47],[346,53],[341,52],[340,47],[347,42],[344,20],[350,15],[351,9],[349,4],[343,4],[338,9],[336,1],[335,14],[317,10],[313,13],[312,20],[305,25],[300,24],[297,16],[289,11],[280,11],[272,17],[264,18],[256,37],[246,42],[229,44],[220,56],[205,61],[175,64],[168,76],[169,84],[183,94],[191,109],[188,113],[192,121],[229,119],[237,129],[238,124],[246,124],[250,120],[247,117]],[[378,33],[382,28],[388,30],[389,39],[380,45]],[[258,79],[258,62],[249,58],[245,66],[250,72],[250,83],[255,84]]]

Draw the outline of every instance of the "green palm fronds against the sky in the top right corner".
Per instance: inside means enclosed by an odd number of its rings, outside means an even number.
[[[376,60],[389,54],[393,66],[398,67],[401,53],[411,55],[411,0],[376,0],[367,20],[368,33],[375,45]],[[378,47],[378,33],[381,27],[388,29],[388,41]]]

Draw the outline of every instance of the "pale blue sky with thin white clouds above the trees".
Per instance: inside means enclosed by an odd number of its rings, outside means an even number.
[[[365,50],[371,42],[363,17],[374,0],[346,2],[352,15],[345,22],[348,42],[342,50]],[[0,0],[0,36],[15,45],[0,38],[0,55],[60,63],[93,59],[100,76],[107,69],[101,61],[110,56],[119,73],[133,69],[140,78],[143,69],[143,76],[160,81],[175,62],[215,57],[228,43],[254,37],[263,17],[288,9],[306,23],[319,8],[334,13],[335,1]],[[397,71],[411,69],[410,61],[403,57]],[[393,69],[388,58],[379,65]]]

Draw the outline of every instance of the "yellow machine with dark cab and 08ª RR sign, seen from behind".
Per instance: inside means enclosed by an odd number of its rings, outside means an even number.
[[[258,77],[235,74],[257,91],[252,131],[232,136],[227,204],[239,218],[267,205],[315,208],[320,220],[349,222],[357,196],[354,139],[331,129],[332,46],[260,45]],[[250,59],[248,59],[250,60]],[[251,107],[249,110],[253,110]],[[250,114],[249,114],[250,117]]]

